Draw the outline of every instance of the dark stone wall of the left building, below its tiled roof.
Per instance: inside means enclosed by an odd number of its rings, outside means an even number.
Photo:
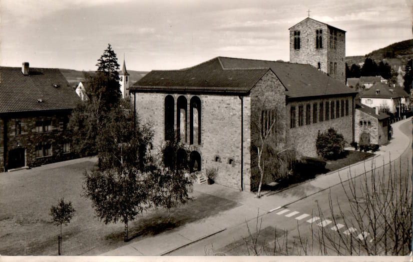
[[[73,152],[63,152],[65,143],[72,140],[71,131],[64,129],[65,116],[69,113],[50,113],[37,116],[12,115],[1,119],[0,168],[8,169],[8,152],[15,148],[25,148],[26,166],[35,167],[41,164],[64,161],[76,157]],[[36,121],[52,120],[52,130],[36,132]],[[16,121],[21,122],[21,134],[16,134]],[[5,128],[6,125],[6,128]],[[7,130],[5,143],[4,130]],[[52,144],[52,154],[36,157],[36,145]],[[6,145],[6,146],[5,146]],[[6,148],[5,148],[6,147]],[[6,155],[5,152],[6,151]]]

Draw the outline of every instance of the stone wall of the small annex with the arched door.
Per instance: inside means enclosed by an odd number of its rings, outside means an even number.
[[[361,125],[360,121],[362,122]],[[364,121],[366,124],[364,124]],[[368,125],[369,122],[370,126]],[[370,135],[370,143],[372,144],[382,145],[387,142],[387,124],[385,123],[383,126],[382,123],[383,121],[379,121],[374,116],[356,109],[354,120],[355,141],[358,143],[361,133],[366,132]]]

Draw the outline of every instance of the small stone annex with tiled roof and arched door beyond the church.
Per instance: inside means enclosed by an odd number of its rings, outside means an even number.
[[[354,139],[359,145],[385,144],[390,138],[390,116],[360,102],[355,103]]]

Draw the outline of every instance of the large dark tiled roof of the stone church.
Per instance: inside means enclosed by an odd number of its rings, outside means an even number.
[[[288,97],[356,93],[308,64],[221,56],[181,70],[153,70],[131,89],[248,92],[268,70],[281,80]]]

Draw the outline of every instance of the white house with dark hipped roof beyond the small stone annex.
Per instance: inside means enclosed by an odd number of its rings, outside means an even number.
[[[386,108],[388,112],[397,116],[400,111],[402,96],[394,87],[378,82],[360,93],[360,102],[369,107],[378,107],[380,110]]]

